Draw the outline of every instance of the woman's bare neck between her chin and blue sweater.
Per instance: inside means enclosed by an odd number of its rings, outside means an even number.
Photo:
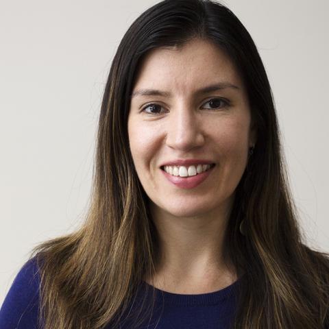
[[[154,204],[150,210],[160,254],[156,274],[147,283],[164,291],[216,291],[237,279],[223,257],[228,211],[175,217]]]

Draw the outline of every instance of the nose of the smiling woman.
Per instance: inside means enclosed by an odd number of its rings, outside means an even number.
[[[166,144],[184,152],[204,145],[201,118],[194,110],[182,106],[172,111]]]

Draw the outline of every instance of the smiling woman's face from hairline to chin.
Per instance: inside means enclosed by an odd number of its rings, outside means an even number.
[[[178,217],[230,208],[256,142],[241,77],[221,49],[199,39],[145,57],[128,135],[153,209]]]

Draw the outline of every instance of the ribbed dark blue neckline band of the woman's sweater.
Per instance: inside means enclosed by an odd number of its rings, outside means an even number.
[[[168,291],[160,290],[154,286],[151,286],[147,282],[143,281],[150,293],[152,288],[156,293],[156,299],[162,301],[165,304],[175,305],[186,305],[186,306],[197,306],[197,305],[214,305],[219,304],[223,300],[236,296],[236,291],[241,284],[242,276],[230,284],[228,287],[213,291],[211,293],[199,293],[199,294],[180,294],[180,293],[169,293]]]

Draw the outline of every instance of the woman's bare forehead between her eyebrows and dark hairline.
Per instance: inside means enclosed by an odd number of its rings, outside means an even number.
[[[171,87],[176,93],[221,81],[242,87],[229,56],[217,45],[201,39],[191,40],[178,49],[150,51],[141,62],[135,81],[134,89]]]

